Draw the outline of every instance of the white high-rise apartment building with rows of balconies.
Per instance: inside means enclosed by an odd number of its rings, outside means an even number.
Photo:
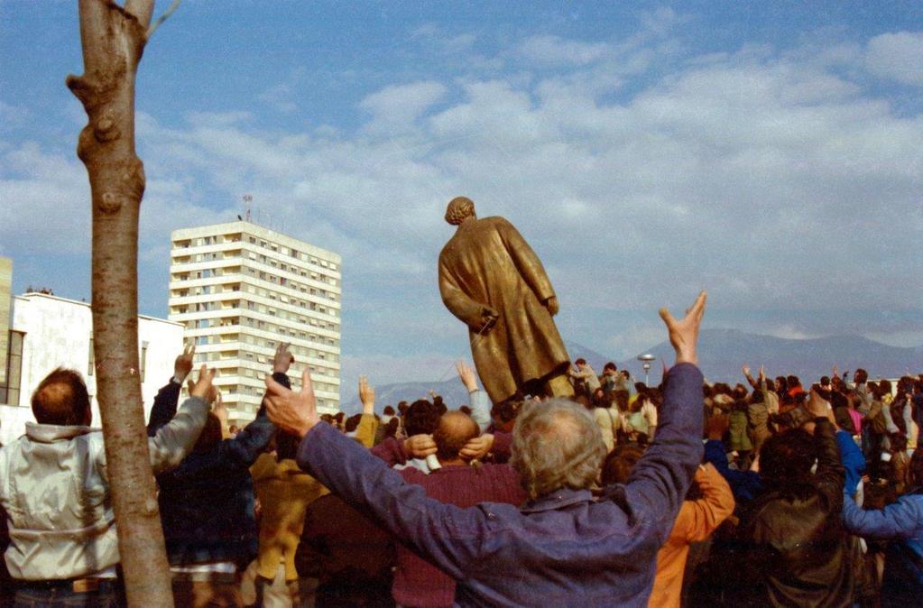
[[[318,411],[340,409],[341,258],[250,221],[174,231],[170,320],[218,371],[231,423],[256,416],[280,342],[290,342],[299,385],[305,366]]]

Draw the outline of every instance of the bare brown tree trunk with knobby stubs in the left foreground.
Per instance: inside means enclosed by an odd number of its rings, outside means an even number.
[[[144,166],[135,153],[135,74],[153,0],[80,0],[84,73],[67,87],[89,123],[77,155],[90,174],[92,310],[97,398],[128,603],[173,606],[150,470],[138,371],[138,213]]]

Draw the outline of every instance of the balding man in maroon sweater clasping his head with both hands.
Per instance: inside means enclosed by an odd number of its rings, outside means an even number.
[[[520,505],[526,495],[519,475],[509,465],[472,466],[462,457],[462,447],[481,430],[473,418],[462,411],[447,411],[439,418],[433,441],[441,469],[428,475],[414,469],[401,471],[409,483],[423,486],[426,495],[456,507],[478,503]],[[397,544],[398,564],[394,571],[391,595],[399,606],[451,606],[455,581],[401,543]]]

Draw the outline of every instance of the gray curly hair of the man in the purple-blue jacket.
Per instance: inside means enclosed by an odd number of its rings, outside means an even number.
[[[528,401],[513,427],[509,464],[531,499],[568,487],[589,488],[605,459],[596,421],[568,399]]]

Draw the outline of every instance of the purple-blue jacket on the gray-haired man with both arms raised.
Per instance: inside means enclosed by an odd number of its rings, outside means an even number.
[[[306,435],[298,464],[455,578],[460,605],[646,606],[701,461],[701,384],[695,365],[670,370],[653,445],[599,500],[561,489],[523,507],[444,505],[327,424]]]

